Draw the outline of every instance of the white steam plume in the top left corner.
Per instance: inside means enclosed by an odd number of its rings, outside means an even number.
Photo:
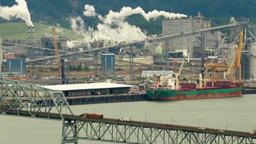
[[[27,26],[33,27],[31,21],[30,12],[27,8],[27,3],[25,0],[15,0],[16,3],[13,7],[2,7],[0,6],[0,17],[6,20],[11,20],[13,18],[20,18],[25,20]]]

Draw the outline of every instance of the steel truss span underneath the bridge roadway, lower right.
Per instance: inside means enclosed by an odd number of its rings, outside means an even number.
[[[191,127],[190,127],[191,128]],[[197,129],[197,130],[196,130]],[[112,143],[256,143],[255,137],[216,131],[187,128],[147,127],[96,121],[63,121],[62,143],[78,143],[78,140],[95,140]]]

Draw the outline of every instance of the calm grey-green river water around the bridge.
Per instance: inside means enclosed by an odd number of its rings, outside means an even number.
[[[102,113],[136,121],[182,124],[239,131],[256,128],[256,95],[177,101],[138,101],[71,106],[74,114]],[[0,116],[0,143],[61,143],[61,121]],[[79,140],[79,143],[102,143]]]

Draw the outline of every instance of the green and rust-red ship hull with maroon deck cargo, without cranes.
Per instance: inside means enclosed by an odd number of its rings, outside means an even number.
[[[159,79],[164,80],[163,76]],[[197,87],[196,83],[181,83],[181,88],[175,89],[174,85],[161,85],[158,81],[151,89],[146,89],[147,95],[152,100],[185,100],[185,99],[203,99],[203,98],[222,98],[242,96],[242,87],[240,83],[231,83],[231,81],[206,82],[206,86]]]

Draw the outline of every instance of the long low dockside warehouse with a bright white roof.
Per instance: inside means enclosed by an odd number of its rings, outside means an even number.
[[[127,93],[132,85],[123,85],[118,83],[79,83],[69,85],[53,85],[42,86],[45,88],[62,91],[66,97],[77,97],[85,95],[101,95],[101,94],[119,94]]]

